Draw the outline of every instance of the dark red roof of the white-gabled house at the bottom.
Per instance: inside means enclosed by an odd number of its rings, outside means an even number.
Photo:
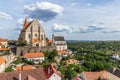
[[[58,71],[51,64],[44,68],[44,72],[47,79],[50,78],[54,73],[61,77]]]

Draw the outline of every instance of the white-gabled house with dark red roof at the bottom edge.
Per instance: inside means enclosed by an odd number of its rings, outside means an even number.
[[[45,67],[44,72],[47,80],[62,80],[60,74],[52,65]]]

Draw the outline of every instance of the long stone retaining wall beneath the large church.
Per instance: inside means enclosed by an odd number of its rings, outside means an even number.
[[[16,49],[16,55],[17,56],[23,56],[25,53],[28,52],[40,52],[40,51],[52,51],[55,49],[54,46],[46,46],[46,47],[17,47]]]

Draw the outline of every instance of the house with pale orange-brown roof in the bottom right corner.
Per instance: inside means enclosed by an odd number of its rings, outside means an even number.
[[[117,73],[119,75],[119,73]],[[120,77],[106,70],[100,72],[82,72],[80,75],[82,80],[120,80]]]

